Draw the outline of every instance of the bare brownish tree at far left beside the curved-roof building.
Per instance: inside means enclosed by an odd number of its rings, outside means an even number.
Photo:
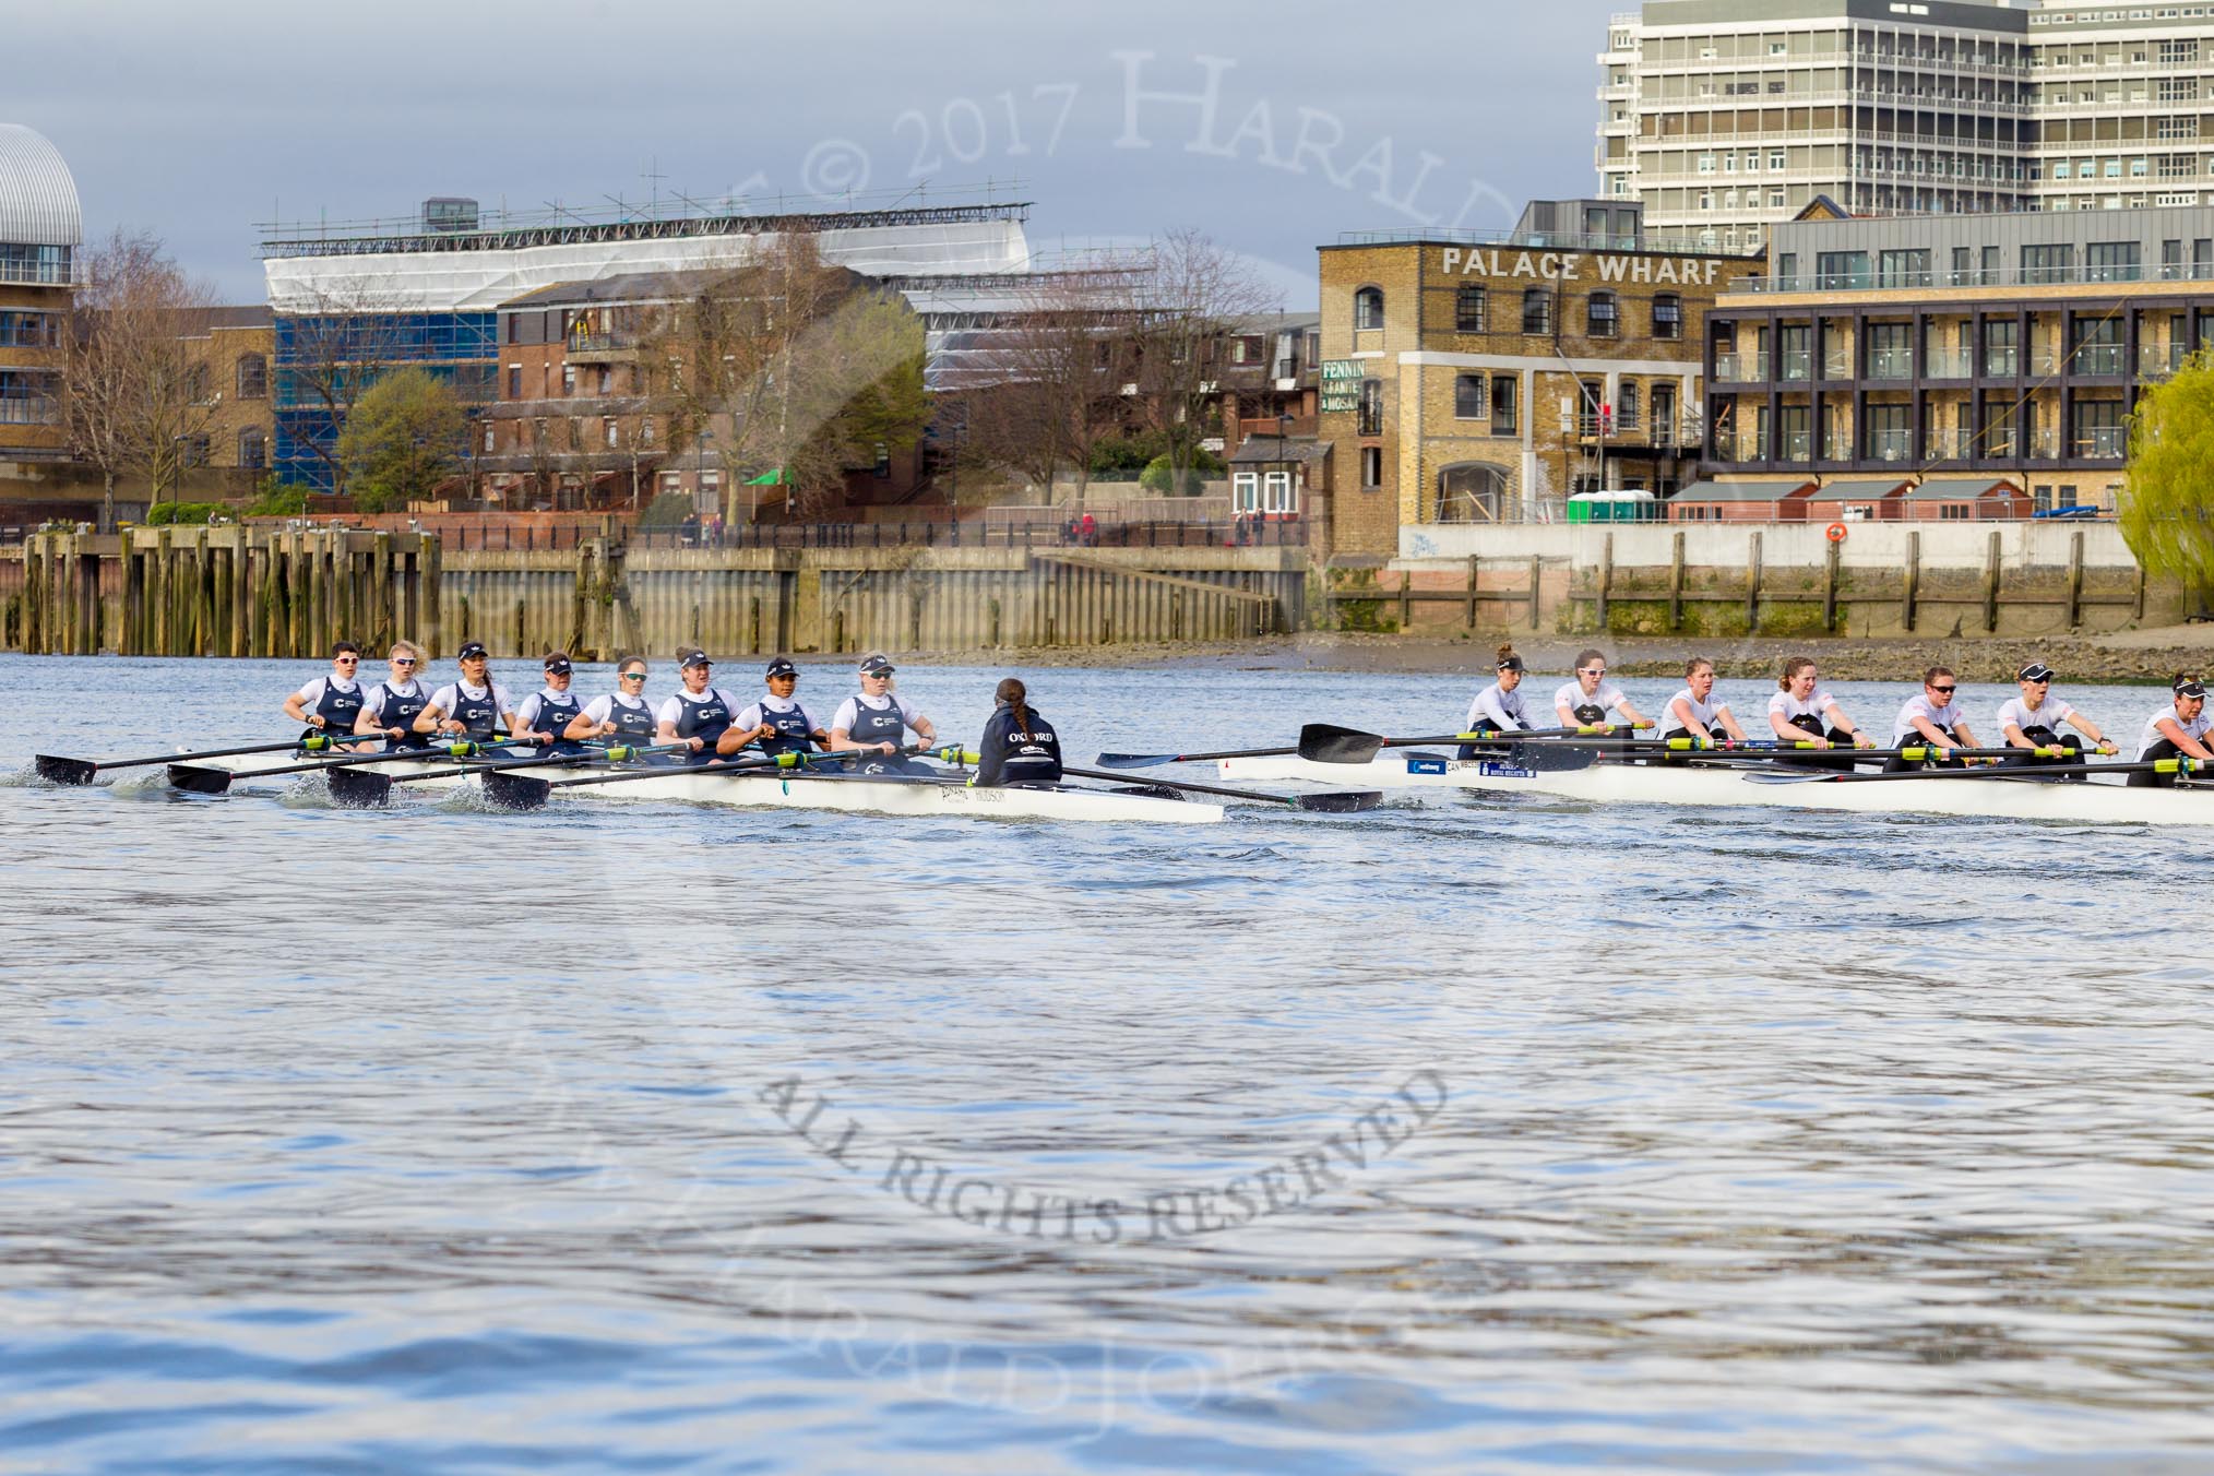
[[[69,319],[64,398],[71,447],[100,467],[102,522],[115,524],[115,478],[142,476],[151,502],[175,491],[206,447],[221,394],[206,352],[215,290],[186,277],[151,235],[115,230],[86,257],[86,288]]]

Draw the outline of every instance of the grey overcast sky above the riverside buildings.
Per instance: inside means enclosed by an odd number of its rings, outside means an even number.
[[[1503,228],[1590,193],[1614,9],[24,4],[0,122],[62,150],[89,237],[153,230],[228,301],[263,301],[257,224],[425,195],[890,204],[1018,179],[1038,250],[1196,226],[1304,308],[1342,230]]]

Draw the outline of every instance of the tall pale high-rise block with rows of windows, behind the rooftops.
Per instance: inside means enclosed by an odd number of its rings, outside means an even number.
[[[1649,0],[1601,64],[1601,193],[1758,248],[1851,215],[2196,206],[2214,193],[2214,4]]]

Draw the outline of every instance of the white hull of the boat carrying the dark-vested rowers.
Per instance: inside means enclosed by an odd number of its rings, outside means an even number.
[[[197,768],[221,768],[232,775],[281,768],[270,763],[270,755],[199,759],[190,752],[179,752],[175,761]],[[452,790],[476,783],[476,775],[447,772],[456,768],[454,759],[394,759],[368,768],[387,779],[410,779],[407,788],[412,790]],[[505,772],[560,783],[562,779],[607,770],[547,763]],[[430,777],[416,779],[416,775]],[[306,775],[272,775],[272,781],[290,783],[301,777]],[[1131,783],[1140,781],[1134,779]],[[1129,790],[1092,790],[1080,786],[972,790],[956,779],[846,779],[790,772],[733,775],[708,768],[671,768],[655,772],[651,779],[624,779],[622,783],[580,783],[556,788],[554,794],[560,799],[726,805],[733,810],[846,810],[857,814],[956,814],[968,819],[1107,821],[1120,825],[1213,825],[1222,821],[1222,805]]]

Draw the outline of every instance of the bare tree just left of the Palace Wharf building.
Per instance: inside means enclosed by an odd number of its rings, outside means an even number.
[[[1277,305],[1240,254],[1198,230],[1153,243],[1151,272],[1127,299],[1116,372],[1134,387],[1138,418],[1167,438],[1178,482],[1207,436],[1224,345],[1242,319]]]

